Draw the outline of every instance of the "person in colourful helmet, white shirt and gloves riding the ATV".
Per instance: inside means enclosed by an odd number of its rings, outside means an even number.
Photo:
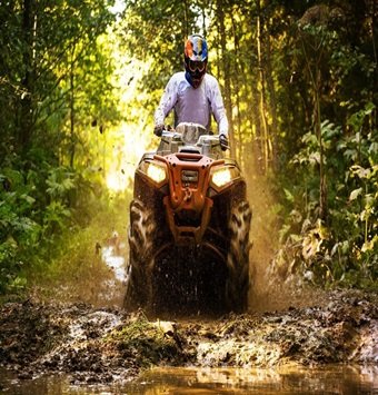
[[[208,46],[200,34],[189,36],[185,45],[185,72],[176,72],[167,83],[155,112],[155,129],[161,136],[165,119],[175,109],[175,126],[195,122],[210,128],[211,112],[218,124],[222,150],[228,148],[228,120],[217,79],[206,72]]]

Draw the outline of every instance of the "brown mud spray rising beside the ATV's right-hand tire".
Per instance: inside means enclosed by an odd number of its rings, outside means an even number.
[[[326,302],[326,293],[308,287],[302,278],[292,275],[289,268],[280,270],[272,267],[275,254],[279,248],[278,205],[271,194],[268,178],[262,174],[261,165],[256,158],[256,155],[250,155],[246,159],[245,168],[248,171],[243,171],[252,209],[249,310],[285,310],[292,306],[314,306],[319,299]]]

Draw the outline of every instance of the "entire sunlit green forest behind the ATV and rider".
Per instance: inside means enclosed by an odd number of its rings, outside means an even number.
[[[0,294],[80,273],[127,227],[192,32],[208,41],[230,155],[270,196],[263,213],[250,201],[270,265],[376,289],[376,20],[374,0],[1,0]]]

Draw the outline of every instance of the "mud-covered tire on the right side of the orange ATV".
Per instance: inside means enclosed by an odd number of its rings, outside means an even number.
[[[229,219],[229,250],[227,255],[228,278],[226,282],[227,309],[242,313],[248,307],[249,289],[249,229],[252,213],[248,201],[236,204]]]

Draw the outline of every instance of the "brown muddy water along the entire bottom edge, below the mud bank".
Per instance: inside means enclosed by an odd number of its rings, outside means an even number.
[[[74,385],[64,376],[16,379],[0,372],[0,394],[377,394],[378,367],[156,368],[137,381]]]

